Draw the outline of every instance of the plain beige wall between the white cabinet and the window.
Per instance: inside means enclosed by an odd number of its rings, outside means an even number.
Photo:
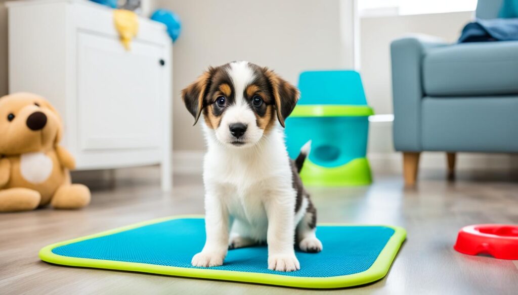
[[[175,151],[205,148],[179,93],[210,65],[249,60],[292,83],[303,70],[352,67],[352,49],[346,48],[352,37],[341,35],[339,0],[158,0],[157,7],[182,20],[173,49]]]

